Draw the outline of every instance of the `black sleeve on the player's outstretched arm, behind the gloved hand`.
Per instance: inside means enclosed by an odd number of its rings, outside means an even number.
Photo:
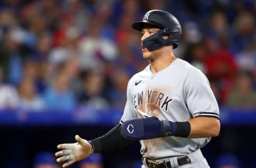
[[[118,124],[105,135],[90,140],[91,144],[93,145],[93,153],[110,152],[120,149],[133,142],[133,140],[125,139],[121,135],[119,131],[120,127],[121,124]]]

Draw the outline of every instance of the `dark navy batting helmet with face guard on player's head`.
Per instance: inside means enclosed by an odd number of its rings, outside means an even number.
[[[144,24],[152,24],[161,28],[156,33],[142,41],[142,44],[149,50],[169,45],[173,45],[173,48],[178,47],[181,35],[181,26],[177,18],[175,18],[171,13],[161,10],[148,11],[144,15],[142,21],[132,24],[132,28],[141,31]],[[163,36],[168,36],[168,38],[164,39]]]

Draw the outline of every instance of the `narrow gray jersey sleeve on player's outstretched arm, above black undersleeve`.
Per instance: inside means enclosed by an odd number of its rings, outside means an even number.
[[[133,105],[133,97],[131,94],[131,80],[129,81],[127,85],[127,91],[126,91],[126,103],[124,107],[124,113],[120,120],[120,123],[123,124],[127,120],[135,119],[134,114],[134,105]]]

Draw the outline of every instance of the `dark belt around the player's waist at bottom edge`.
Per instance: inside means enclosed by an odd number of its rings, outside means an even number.
[[[146,164],[149,168],[172,168],[172,167],[178,167],[185,164],[191,163],[191,160],[188,156],[182,156],[177,158],[177,162],[179,165],[172,166],[170,159],[164,160],[164,161],[153,161],[148,158],[146,159]]]

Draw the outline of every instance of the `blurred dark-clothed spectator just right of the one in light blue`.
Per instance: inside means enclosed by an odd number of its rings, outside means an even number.
[[[83,106],[104,110],[109,107],[109,103],[102,96],[105,79],[97,71],[91,70],[85,74],[83,80],[84,89],[79,96],[79,103]]]

